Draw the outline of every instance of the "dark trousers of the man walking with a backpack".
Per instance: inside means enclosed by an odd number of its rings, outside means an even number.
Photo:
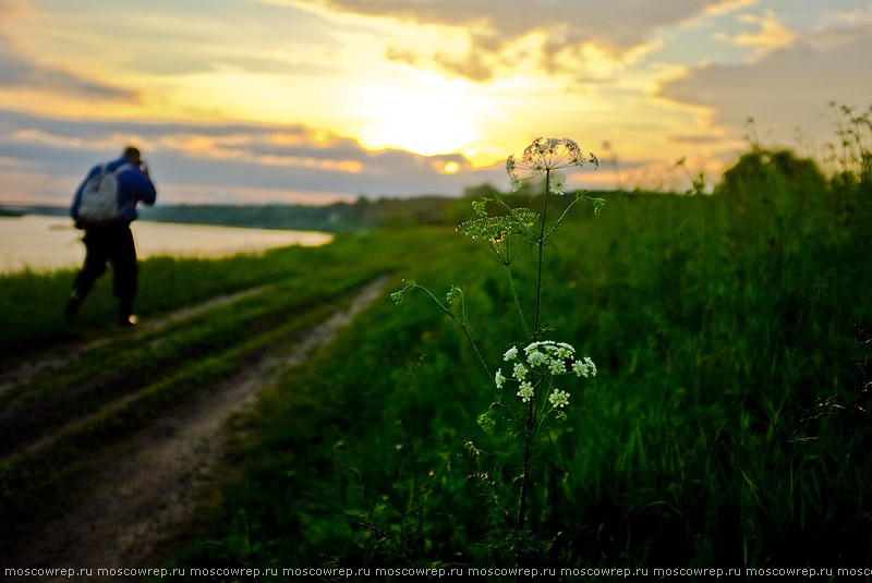
[[[112,264],[112,289],[119,301],[119,317],[133,313],[136,295],[136,246],[130,224],[107,224],[85,229],[85,264],[73,282],[73,291],[84,299],[94,281],[106,272],[106,263]]]

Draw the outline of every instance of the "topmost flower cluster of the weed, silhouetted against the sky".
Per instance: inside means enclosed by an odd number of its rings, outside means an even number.
[[[600,160],[591,153],[588,158],[581,153],[579,145],[567,137],[537,137],[530,144],[521,157],[521,161],[514,159],[514,155],[506,160],[506,172],[511,180],[513,191],[521,186],[521,178],[518,175],[519,169],[526,169],[532,177],[538,177],[552,170],[566,168],[569,166],[583,166],[585,163],[600,166]],[[553,194],[564,194],[566,192],[566,180],[562,177],[552,178],[549,190]]]

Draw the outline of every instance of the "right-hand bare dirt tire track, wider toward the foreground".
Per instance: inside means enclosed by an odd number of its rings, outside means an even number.
[[[155,567],[161,544],[184,531],[210,484],[229,436],[228,421],[251,408],[279,374],[332,341],[340,328],[384,291],[371,281],[351,304],[300,338],[290,350],[267,350],[246,367],[197,392],[133,437],[108,448],[102,470],[76,484],[62,518],[22,542],[9,567]],[[96,571],[95,571],[96,573]]]

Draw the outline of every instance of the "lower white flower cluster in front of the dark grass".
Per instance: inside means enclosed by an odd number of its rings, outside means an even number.
[[[585,356],[576,359],[576,349],[566,342],[554,342],[545,340],[533,342],[523,349],[523,354],[518,347],[512,347],[502,355],[502,360],[512,367],[511,377],[519,384],[518,397],[524,403],[533,398],[534,387],[531,382],[532,374],[542,376],[557,376],[574,373],[579,377],[596,376],[596,365]],[[502,376],[502,371],[498,369],[495,381],[498,389],[509,380]],[[555,389],[548,397],[552,406],[562,409],[569,403],[569,393]]]

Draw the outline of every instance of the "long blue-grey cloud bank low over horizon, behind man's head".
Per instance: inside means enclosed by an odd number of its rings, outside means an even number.
[[[456,196],[468,185],[505,181],[505,169],[473,169],[458,154],[371,151],[301,125],[70,120],[0,110],[0,180],[14,172],[23,191],[0,197],[66,204],[87,170],[126,144],[142,148],[165,204]],[[449,162],[460,171],[446,172]]]

